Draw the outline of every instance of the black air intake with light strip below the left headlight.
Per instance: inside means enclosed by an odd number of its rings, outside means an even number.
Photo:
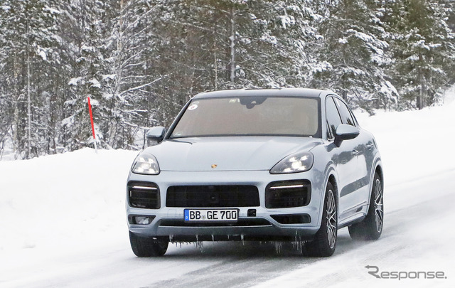
[[[129,206],[159,209],[159,187],[156,183],[131,181],[127,185]]]

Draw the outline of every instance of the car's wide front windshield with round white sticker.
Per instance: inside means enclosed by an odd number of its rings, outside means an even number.
[[[214,136],[321,137],[319,98],[232,97],[193,100],[171,138]]]

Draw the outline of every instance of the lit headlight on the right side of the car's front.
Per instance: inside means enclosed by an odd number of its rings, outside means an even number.
[[[310,152],[291,154],[273,166],[270,173],[286,174],[308,171],[313,166],[313,161],[314,156]]]

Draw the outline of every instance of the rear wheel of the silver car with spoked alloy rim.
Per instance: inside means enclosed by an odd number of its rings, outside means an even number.
[[[378,173],[373,178],[370,207],[362,222],[349,226],[349,235],[353,240],[378,240],[384,225],[384,191]]]

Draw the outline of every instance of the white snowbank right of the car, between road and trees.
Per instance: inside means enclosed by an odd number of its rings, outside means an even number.
[[[385,168],[386,184],[402,183],[455,169],[455,102],[419,111],[356,113],[373,132]]]

